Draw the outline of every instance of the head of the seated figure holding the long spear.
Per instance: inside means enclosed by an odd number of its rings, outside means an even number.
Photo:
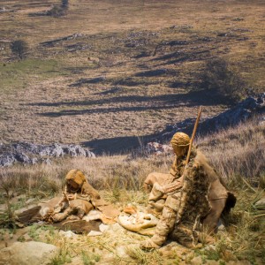
[[[190,145],[190,137],[186,133],[175,133],[170,140],[174,153],[177,156],[186,155]]]

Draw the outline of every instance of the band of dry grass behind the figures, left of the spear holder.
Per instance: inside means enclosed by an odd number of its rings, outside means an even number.
[[[147,195],[141,187],[148,173],[166,171],[168,157],[128,159],[126,155],[100,156],[95,159],[59,159],[52,164],[14,166],[1,170],[0,199],[24,194],[26,198],[42,199],[54,196],[64,186],[64,176],[73,168],[86,173],[87,179],[109,201],[145,203]]]

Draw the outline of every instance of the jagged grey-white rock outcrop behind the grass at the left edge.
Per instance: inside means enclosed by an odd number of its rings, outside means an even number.
[[[13,163],[34,164],[50,163],[50,158],[62,156],[95,157],[87,148],[79,145],[37,145],[28,142],[14,144],[0,144],[0,167],[11,166]]]

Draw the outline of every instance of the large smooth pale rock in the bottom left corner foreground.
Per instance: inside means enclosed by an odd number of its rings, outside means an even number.
[[[56,252],[57,246],[42,242],[15,242],[0,251],[0,265],[45,265]]]

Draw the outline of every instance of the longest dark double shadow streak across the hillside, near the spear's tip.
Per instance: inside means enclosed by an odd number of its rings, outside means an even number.
[[[106,108],[97,106],[103,106],[109,103],[131,103],[131,106],[117,106]],[[138,105],[132,106],[135,102]],[[145,103],[140,105],[140,103]],[[147,104],[148,102],[148,104]],[[125,95],[125,96],[114,96],[99,100],[88,100],[79,102],[36,102],[27,105],[31,106],[46,106],[46,107],[89,107],[89,109],[82,110],[61,110],[61,111],[49,111],[37,113],[39,116],[44,117],[61,117],[61,116],[74,116],[94,113],[110,113],[110,112],[121,112],[121,111],[144,111],[144,110],[166,110],[170,108],[183,108],[183,107],[196,107],[199,105],[212,106],[216,104],[222,104],[223,98],[220,96],[209,93],[205,90],[192,91],[186,94],[171,94],[171,95],[155,95],[155,96],[144,96],[144,95]],[[225,102],[226,104],[228,102]],[[92,108],[90,108],[92,107]]]

